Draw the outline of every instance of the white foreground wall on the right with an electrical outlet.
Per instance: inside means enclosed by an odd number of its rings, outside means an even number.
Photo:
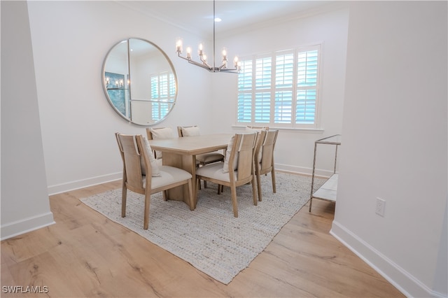
[[[448,292],[447,79],[446,1],[351,2],[332,234],[410,297]]]

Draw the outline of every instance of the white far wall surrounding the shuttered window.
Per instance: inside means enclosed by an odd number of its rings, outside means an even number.
[[[331,9],[330,9],[331,8]],[[229,57],[286,50],[303,45],[322,43],[321,72],[321,128],[318,131],[280,129],[276,143],[276,169],[311,173],[314,141],[342,133],[342,108],[344,104],[346,42],[349,10],[343,3],[335,3],[319,10],[317,15],[287,19],[278,23],[233,32],[227,38],[216,40],[217,52],[223,45]],[[323,9],[323,8],[321,8]],[[219,58],[219,57],[218,57]],[[233,58],[232,58],[233,59]],[[229,73],[218,73],[213,78],[214,94],[211,98],[216,126],[230,127],[236,122],[237,80]],[[273,127],[275,128],[275,127]],[[234,128],[237,132],[239,129]],[[330,150],[330,151],[329,151]],[[320,148],[317,168],[319,174],[330,176],[334,148]]]

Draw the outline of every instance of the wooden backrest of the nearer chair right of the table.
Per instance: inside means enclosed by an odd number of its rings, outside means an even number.
[[[244,180],[253,175],[253,154],[258,133],[235,134],[232,151],[230,152],[229,164],[234,164],[238,159],[237,179]],[[229,166],[230,175],[234,173],[232,166]]]

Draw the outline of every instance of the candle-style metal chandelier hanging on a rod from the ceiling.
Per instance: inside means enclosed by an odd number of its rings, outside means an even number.
[[[207,69],[208,71],[210,71],[212,73],[218,73],[218,72],[239,73],[239,71],[241,70],[241,64],[238,61],[238,57],[235,57],[235,59],[233,61],[234,68],[228,69],[227,51],[225,49],[223,49],[223,52],[222,52],[221,66],[216,66],[216,63],[215,63],[215,22],[216,22],[216,17],[215,17],[215,0],[214,0],[213,1],[213,65],[210,65],[207,62],[207,55],[205,55],[204,45],[202,45],[202,43],[200,43],[198,50],[197,50],[197,55],[200,57],[201,62],[196,62],[191,59],[191,48],[190,47],[187,48],[186,57],[181,56],[182,50],[183,50],[181,39],[179,39],[176,42],[177,56],[179,58],[186,59],[188,61],[188,63],[190,63],[190,64],[200,66],[203,69]]]

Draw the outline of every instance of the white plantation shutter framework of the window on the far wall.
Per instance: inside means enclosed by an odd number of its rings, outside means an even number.
[[[297,48],[290,48],[287,50],[276,50],[272,52],[265,52],[263,54],[258,55],[251,55],[247,57],[243,57],[241,59],[241,69],[244,69],[244,64],[248,63],[248,61],[251,61],[252,63],[252,69],[251,69],[251,87],[246,90],[240,90],[240,75],[237,78],[237,101],[236,101],[236,108],[235,111],[237,112],[235,115],[235,124],[237,126],[246,126],[246,125],[255,125],[255,126],[269,126],[269,127],[276,127],[276,128],[285,128],[285,129],[316,129],[321,130],[321,72],[322,72],[322,43],[316,43],[312,45],[304,45]],[[309,86],[307,87],[299,87],[297,82],[297,63],[298,63],[298,53],[300,52],[312,52],[312,51],[318,51],[317,54],[317,67],[316,67],[316,85],[313,89],[316,90],[316,99],[314,104],[314,122],[313,123],[306,123],[306,122],[299,122],[296,123],[296,116],[297,116],[297,93],[299,90],[308,90],[310,89]],[[290,87],[279,87],[276,85],[276,59],[278,56],[281,55],[290,55],[293,54],[293,71],[292,71],[292,85]],[[255,121],[255,111],[256,111],[256,105],[257,101],[255,100],[255,96],[257,92],[260,92],[261,89],[257,89],[255,85],[256,81],[256,61],[257,59],[262,59],[265,57],[270,57],[271,59],[271,85],[270,88],[267,88],[265,90],[268,90],[267,92],[270,93],[270,110],[269,110],[269,121],[267,122],[260,122]],[[247,74],[247,73],[246,73]],[[290,121],[288,123],[281,123],[276,122],[276,93],[277,92],[285,92],[290,90],[292,92],[292,95],[290,97],[291,105],[290,105]],[[248,99],[248,94],[250,94],[251,98],[251,120],[248,121],[241,121],[241,114],[246,113],[246,115],[243,115],[242,117],[247,117],[248,113],[248,104],[245,106],[240,106],[240,97],[242,94],[246,94],[246,103]],[[242,98],[241,98],[242,99]],[[278,107],[278,106],[277,106]],[[244,109],[245,108],[245,109]],[[288,114],[286,114],[288,115]]]

